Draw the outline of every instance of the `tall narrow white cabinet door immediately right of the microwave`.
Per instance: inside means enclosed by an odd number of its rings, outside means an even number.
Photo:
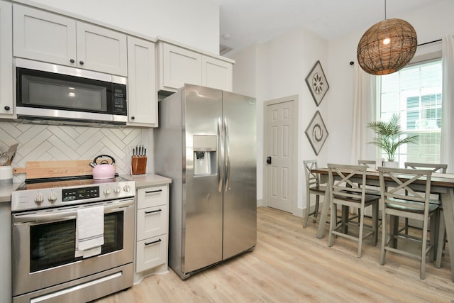
[[[157,127],[155,43],[128,37],[128,125]]]

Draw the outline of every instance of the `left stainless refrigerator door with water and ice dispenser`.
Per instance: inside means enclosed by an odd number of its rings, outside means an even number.
[[[222,92],[186,84],[183,106],[186,194],[182,271],[192,272],[222,260]],[[194,161],[207,157],[209,163],[196,164],[194,171]]]

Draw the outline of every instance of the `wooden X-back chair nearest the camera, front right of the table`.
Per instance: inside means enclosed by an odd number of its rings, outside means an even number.
[[[380,188],[382,197],[380,207],[382,209],[382,246],[380,250],[380,265],[386,263],[388,251],[399,253],[410,258],[420,260],[421,279],[426,277],[426,255],[431,253],[434,260],[434,246],[436,237],[431,233],[428,241],[428,224],[431,230],[436,230],[438,221],[438,204],[431,204],[431,175],[432,170],[414,170],[406,168],[378,167]],[[415,190],[414,188],[418,188]],[[394,226],[388,221],[393,218]],[[406,246],[398,246],[396,218],[404,217],[422,222],[422,240],[419,253],[405,250]],[[397,245],[396,245],[397,244]]]

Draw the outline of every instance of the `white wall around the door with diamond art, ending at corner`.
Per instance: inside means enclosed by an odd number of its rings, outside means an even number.
[[[314,33],[304,29],[297,29],[278,38],[260,45],[237,52],[233,65],[233,91],[239,94],[248,94],[257,99],[257,130],[258,130],[258,200],[263,198],[263,169],[265,162],[263,148],[263,116],[264,102],[281,97],[299,95],[299,126],[294,131],[298,137],[297,162],[311,155],[316,158],[309,143],[306,143],[304,130],[312,119],[316,110],[324,116],[326,104],[329,104],[331,91],[328,90],[325,98],[317,107],[311,93],[307,89],[306,76],[317,60],[326,67],[328,62],[328,42]],[[329,77],[328,77],[329,83]],[[247,87],[247,84],[249,87]],[[331,85],[331,83],[330,83]],[[254,94],[255,86],[255,94]],[[325,119],[323,117],[323,119]],[[326,122],[326,119],[325,119]],[[327,126],[329,131],[329,126]],[[331,135],[330,135],[331,136]],[[329,136],[328,136],[329,139]],[[326,143],[325,143],[326,144]],[[323,147],[319,158],[326,158],[326,148]],[[304,177],[302,165],[298,170],[297,192],[299,209],[302,208],[301,186]]]

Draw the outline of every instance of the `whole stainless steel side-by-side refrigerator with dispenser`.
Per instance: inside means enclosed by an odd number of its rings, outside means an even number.
[[[255,99],[185,84],[159,115],[155,173],[172,178],[169,265],[186,279],[255,248]]]

